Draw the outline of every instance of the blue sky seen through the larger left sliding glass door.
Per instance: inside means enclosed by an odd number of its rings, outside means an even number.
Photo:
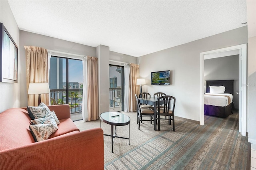
[[[63,82],[66,82],[66,60],[63,59]],[[68,81],[83,83],[83,62],[82,60],[68,59]]]

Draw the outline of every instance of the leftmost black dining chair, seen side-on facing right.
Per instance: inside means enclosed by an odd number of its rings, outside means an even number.
[[[142,121],[150,121],[150,123],[152,124],[152,121],[154,121],[154,111],[148,107],[141,108],[138,96],[136,94],[135,94],[135,98],[136,98],[136,103],[137,103],[137,124],[139,124],[138,128],[140,129],[140,123],[142,123]],[[145,117],[145,116],[146,117],[149,116],[150,120],[142,119],[142,117]]]

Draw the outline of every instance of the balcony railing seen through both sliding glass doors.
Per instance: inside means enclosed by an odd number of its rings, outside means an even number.
[[[66,95],[66,89],[50,89],[50,97],[52,97],[58,105],[66,104],[68,99],[70,113],[81,113],[83,89],[68,89],[68,91],[69,94]],[[118,97],[121,93],[121,88],[109,88],[109,107],[113,107],[113,105],[118,106],[118,103],[114,103],[114,97]]]

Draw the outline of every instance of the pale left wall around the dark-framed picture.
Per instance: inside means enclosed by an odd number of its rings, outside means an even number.
[[[14,42],[18,45],[18,83],[0,82],[0,112],[20,106],[20,33],[7,0],[0,0],[0,22],[4,24]]]

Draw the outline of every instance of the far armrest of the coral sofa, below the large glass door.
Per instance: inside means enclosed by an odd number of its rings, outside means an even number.
[[[70,118],[70,106],[69,105],[52,105],[48,106],[50,111],[54,111],[58,119]]]

